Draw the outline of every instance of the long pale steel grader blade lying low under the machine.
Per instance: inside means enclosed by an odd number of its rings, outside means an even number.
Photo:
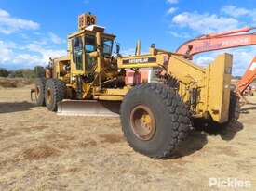
[[[121,102],[63,100],[58,104],[61,116],[119,117]]]

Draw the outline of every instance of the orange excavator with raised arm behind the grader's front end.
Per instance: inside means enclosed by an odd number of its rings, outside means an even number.
[[[209,33],[199,36],[195,39],[189,40],[182,44],[176,53],[183,54],[188,59],[193,59],[193,56],[199,53],[205,53],[214,50],[222,50],[228,48],[235,48],[240,46],[256,45],[256,33],[251,32],[255,30],[254,27],[245,27],[238,30],[228,32]],[[242,95],[256,79],[256,57],[251,61],[248,70],[238,81],[236,89],[237,94],[248,102]]]

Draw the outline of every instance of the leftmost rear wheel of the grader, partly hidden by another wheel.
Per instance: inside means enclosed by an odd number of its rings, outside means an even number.
[[[36,105],[46,106],[46,102],[45,102],[46,78],[36,78],[34,84],[35,84]]]

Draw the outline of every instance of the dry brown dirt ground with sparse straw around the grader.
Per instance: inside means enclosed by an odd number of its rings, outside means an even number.
[[[233,127],[193,131],[172,159],[154,160],[128,146],[118,118],[60,117],[34,106],[30,86],[0,87],[0,190],[218,189],[209,178],[256,190],[255,118],[249,105]]]

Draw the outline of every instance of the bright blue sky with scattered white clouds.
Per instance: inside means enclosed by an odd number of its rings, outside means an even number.
[[[98,24],[115,33],[122,52],[131,54],[137,39],[143,52],[155,43],[175,51],[203,33],[256,26],[253,0],[0,0],[0,67],[47,65],[66,54],[66,36],[77,30],[77,16],[90,11]],[[242,75],[255,46],[225,50],[234,54],[235,75]],[[220,52],[198,55],[206,65]]]

